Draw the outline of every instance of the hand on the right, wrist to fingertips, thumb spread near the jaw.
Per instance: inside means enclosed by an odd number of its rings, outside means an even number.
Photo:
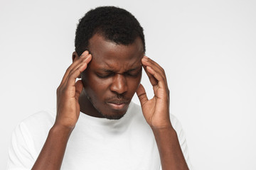
[[[142,84],[139,84],[137,89],[144,118],[151,128],[172,128],[169,116],[169,89],[164,69],[146,56],[142,58],[142,65],[154,90],[154,97],[149,100]]]

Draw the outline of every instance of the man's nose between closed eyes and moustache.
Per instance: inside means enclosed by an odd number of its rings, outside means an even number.
[[[110,90],[116,94],[124,94],[127,91],[127,81],[122,74],[114,75]]]

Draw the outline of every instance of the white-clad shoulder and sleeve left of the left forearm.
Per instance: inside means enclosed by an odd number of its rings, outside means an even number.
[[[46,141],[48,131],[55,121],[55,112],[40,111],[22,120],[11,135],[9,167],[31,167]],[[29,166],[28,166],[29,165]]]

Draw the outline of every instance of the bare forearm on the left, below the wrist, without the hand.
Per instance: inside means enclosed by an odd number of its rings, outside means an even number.
[[[32,169],[60,169],[71,132],[70,128],[53,126]]]

